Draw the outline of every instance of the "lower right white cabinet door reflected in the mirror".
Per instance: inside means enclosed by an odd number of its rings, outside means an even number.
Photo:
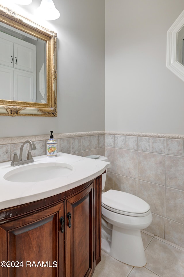
[[[14,70],[14,100],[36,102],[36,90],[33,87],[32,74]]]

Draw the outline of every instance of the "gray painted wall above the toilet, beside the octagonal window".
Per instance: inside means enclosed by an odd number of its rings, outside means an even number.
[[[166,68],[181,0],[106,0],[105,130],[184,134],[184,82]]]

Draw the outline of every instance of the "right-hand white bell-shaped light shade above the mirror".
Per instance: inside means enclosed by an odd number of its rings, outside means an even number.
[[[60,17],[60,13],[55,8],[52,0],[42,0],[36,14],[46,20],[54,20]]]

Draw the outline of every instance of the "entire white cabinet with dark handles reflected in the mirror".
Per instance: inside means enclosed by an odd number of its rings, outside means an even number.
[[[1,99],[35,102],[35,45],[0,32],[0,82]]]

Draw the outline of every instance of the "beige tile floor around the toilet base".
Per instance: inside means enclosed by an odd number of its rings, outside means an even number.
[[[102,251],[93,277],[184,277],[184,248],[148,232],[141,232],[147,264],[133,267]]]

